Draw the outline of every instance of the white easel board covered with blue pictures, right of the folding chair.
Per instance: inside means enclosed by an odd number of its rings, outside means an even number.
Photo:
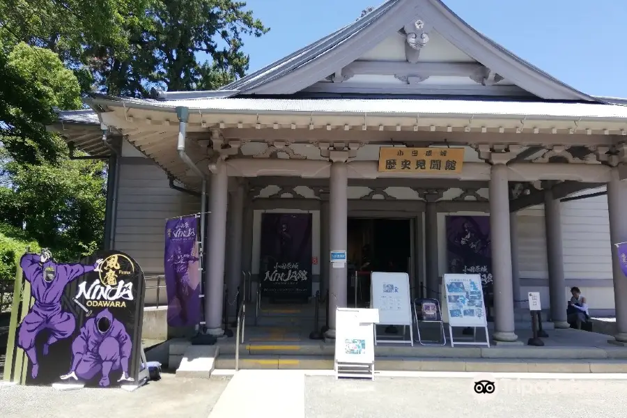
[[[480,274],[444,274],[442,279],[442,305],[445,307],[449,323],[451,347],[459,346],[488,346],[488,320],[486,318],[486,304],[483,302]],[[455,341],[453,328],[463,327],[473,329],[472,341]],[[486,331],[486,341],[477,341],[477,328]]]

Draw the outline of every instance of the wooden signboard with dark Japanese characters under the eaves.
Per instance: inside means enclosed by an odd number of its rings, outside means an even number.
[[[379,148],[379,171],[461,173],[464,148]]]

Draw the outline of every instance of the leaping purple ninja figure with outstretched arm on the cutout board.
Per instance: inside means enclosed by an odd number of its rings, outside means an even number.
[[[33,368],[32,378],[39,373],[35,339],[43,330],[49,330],[50,336],[43,346],[43,355],[48,355],[51,344],[60,339],[68,338],[74,333],[76,319],[61,309],[61,297],[65,285],[85,273],[98,271],[102,260],[93,265],[57,264],[52,260],[48,249],[42,249],[41,254],[24,254],[20,266],[24,277],[31,284],[31,295],[35,304],[22,320],[20,332],[17,336],[17,346],[26,352]]]

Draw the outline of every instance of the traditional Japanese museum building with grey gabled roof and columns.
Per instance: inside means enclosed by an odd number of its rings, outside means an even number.
[[[627,341],[613,250],[627,241],[627,107],[551,77],[442,1],[386,1],[217,91],[153,93],[95,95],[52,129],[111,155],[107,246],[146,275],[163,273],[164,219],[210,212],[209,332],[222,332],[224,286],[242,270],[254,286],[265,277],[264,216],[302,213],[311,254],[299,268],[307,295],[329,290],[328,336],[363,251],[407,271],[414,296],[438,295],[462,242],[483,260],[464,270],[491,283],[496,341],[518,339],[529,291],[567,327],[571,286]],[[348,264],[330,268],[330,250]]]

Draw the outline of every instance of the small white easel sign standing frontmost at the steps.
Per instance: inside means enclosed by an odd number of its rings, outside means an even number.
[[[337,308],[335,378],[374,380],[374,324],[377,309]]]

